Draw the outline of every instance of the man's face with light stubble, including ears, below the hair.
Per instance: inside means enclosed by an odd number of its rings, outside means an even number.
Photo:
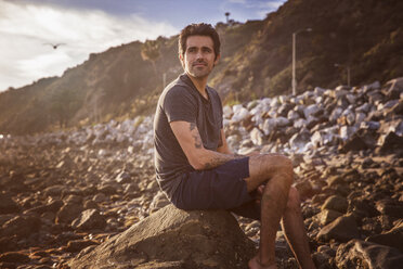
[[[211,73],[220,55],[216,57],[213,41],[210,37],[190,36],[186,39],[186,51],[179,57],[187,75],[194,78],[205,78]]]

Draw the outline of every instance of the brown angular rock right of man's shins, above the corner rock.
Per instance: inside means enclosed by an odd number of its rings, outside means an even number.
[[[358,229],[355,219],[352,215],[344,215],[337,218],[332,223],[325,226],[317,233],[317,240],[329,241],[335,239],[340,242],[347,242],[351,239],[359,239],[360,231]]]

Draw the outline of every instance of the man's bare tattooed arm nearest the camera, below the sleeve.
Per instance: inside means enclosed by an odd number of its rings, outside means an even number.
[[[196,124],[179,120],[171,121],[170,126],[188,163],[196,170],[211,169],[231,159],[242,157],[205,149]]]

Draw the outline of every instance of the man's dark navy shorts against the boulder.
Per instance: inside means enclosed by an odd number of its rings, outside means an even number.
[[[226,209],[260,219],[255,193],[248,193],[244,178],[249,177],[249,157],[233,159],[208,170],[183,175],[172,203],[184,210]]]

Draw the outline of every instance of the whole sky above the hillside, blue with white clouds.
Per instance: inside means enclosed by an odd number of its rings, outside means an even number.
[[[240,23],[263,20],[285,1],[0,0],[0,92],[62,76],[110,47],[225,22],[225,12]]]

